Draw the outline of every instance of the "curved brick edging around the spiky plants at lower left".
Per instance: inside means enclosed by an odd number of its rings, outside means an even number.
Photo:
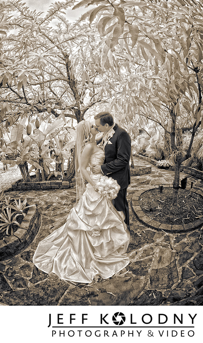
[[[27,205],[31,205],[31,207],[25,215],[21,226],[13,235],[4,236],[0,240],[0,261],[8,260],[24,250],[32,243],[38,232],[41,218],[37,206],[33,201],[27,202]]]

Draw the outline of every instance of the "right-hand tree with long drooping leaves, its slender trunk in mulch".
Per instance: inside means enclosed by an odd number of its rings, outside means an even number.
[[[131,120],[136,112],[159,123],[170,134],[175,162],[175,204],[180,165],[190,156],[196,130],[203,127],[203,5],[193,0],[83,0],[75,8],[93,3],[98,7],[84,16],[90,24],[98,22],[101,65],[115,75],[125,68],[123,84],[129,102],[125,107],[124,101],[123,109],[127,119]],[[186,152],[182,150],[177,125],[181,122],[179,117],[183,117],[183,108],[192,123]]]

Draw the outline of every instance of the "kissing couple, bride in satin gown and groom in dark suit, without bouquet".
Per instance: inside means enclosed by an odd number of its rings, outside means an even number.
[[[95,125],[83,120],[76,128],[77,204],[66,223],[39,242],[33,257],[40,270],[79,283],[91,283],[96,275],[107,279],[130,261],[126,254],[130,240],[126,199],[130,137],[108,112],[97,114],[94,120]],[[120,186],[113,200],[99,192],[98,181],[104,175]]]

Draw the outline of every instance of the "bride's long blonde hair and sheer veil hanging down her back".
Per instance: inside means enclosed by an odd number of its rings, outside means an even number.
[[[76,142],[75,142],[75,174],[76,174],[76,190],[77,200],[83,195],[85,191],[85,180],[80,174],[80,158],[85,145],[92,142],[92,134],[90,132],[91,125],[88,120],[82,120],[78,123],[76,128]]]

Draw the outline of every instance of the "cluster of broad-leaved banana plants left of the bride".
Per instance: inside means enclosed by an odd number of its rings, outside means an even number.
[[[75,130],[69,127],[64,129],[64,124],[63,119],[56,119],[48,125],[42,122],[40,130],[31,123],[33,134],[27,134],[24,121],[14,125],[9,136],[10,143],[0,149],[3,154],[12,154],[12,159],[1,161],[10,164],[11,167],[17,164],[25,182],[31,182],[31,171],[36,173],[38,181],[45,181],[53,174],[56,178],[59,175],[63,177],[64,161],[70,158],[69,151],[75,142]],[[49,157],[49,144],[53,140],[56,146],[54,154]],[[31,165],[30,169],[28,164]]]

